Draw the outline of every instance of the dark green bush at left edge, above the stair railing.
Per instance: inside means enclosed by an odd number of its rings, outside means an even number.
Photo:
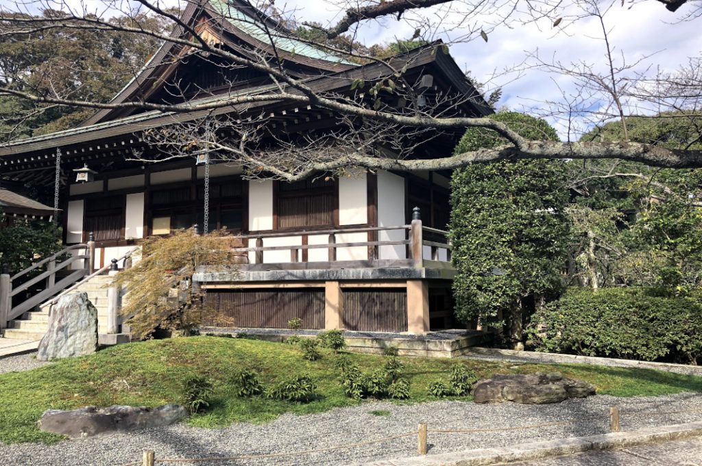
[[[3,223],[0,212],[0,224]],[[52,256],[62,248],[61,231],[53,224],[15,221],[13,226],[0,228],[0,263],[7,263],[13,273]]]

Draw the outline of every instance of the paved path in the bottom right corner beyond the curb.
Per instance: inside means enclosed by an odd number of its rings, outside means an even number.
[[[702,438],[512,462],[510,466],[702,466]]]

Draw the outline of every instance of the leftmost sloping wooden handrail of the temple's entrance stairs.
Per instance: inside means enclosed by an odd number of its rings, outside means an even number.
[[[6,328],[9,321],[34,309],[39,304],[44,303],[46,299],[62,292],[94,271],[95,241],[92,233],[89,238],[87,243],[65,247],[53,256],[34,263],[15,275],[10,275],[7,266],[3,266],[4,270],[0,274],[0,329]],[[82,251],[82,254],[74,254],[74,251]],[[70,254],[69,258],[62,260],[62,257],[67,254]],[[79,263],[79,261],[81,268],[69,269],[69,266]],[[44,271],[28,278],[31,276],[30,273],[39,270]],[[68,270],[69,273],[57,280],[57,275],[61,270]],[[43,289],[27,299],[17,302],[20,301],[16,297],[18,294],[27,290],[36,291],[32,287],[40,283]]]

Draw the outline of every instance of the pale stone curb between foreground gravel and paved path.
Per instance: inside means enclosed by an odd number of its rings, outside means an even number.
[[[611,450],[702,435],[702,422],[647,427],[630,432],[572,437],[569,439],[535,441],[499,448],[416,456],[397,460],[365,463],[364,466],[487,466],[504,462],[529,461],[550,456],[571,455],[583,451]]]

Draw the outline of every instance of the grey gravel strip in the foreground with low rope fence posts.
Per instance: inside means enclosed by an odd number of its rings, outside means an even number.
[[[485,405],[471,402],[431,402],[392,404],[369,402],[352,408],[334,409],[309,416],[286,414],[272,423],[237,423],[207,430],[185,425],[162,427],[130,434],[113,434],[91,439],[39,444],[0,444],[0,465],[123,465],[140,461],[145,449],[161,458],[206,458],[211,456],[259,455],[303,451],[328,446],[355,444],[381,437],[416,431],[420,422],[429,429],[479,429],[515,427],[602,416],[574,425],[558,425],[529,430],[438,434],[428,436],[430,454],[470,448],[508,446],[525,441],[575,437],[608,432],[610,406],[621,409],[622,430],[677,424],[702,419],[702,395],[679,394],[668,397],[615,398],[595,396],[572,399],[561,404],[529,406],[519,404]],[[371,411],[388,411],[376,416]],[[640,415],[651,411],[696,410],[663,416]],[[279,458],[239,461],[183,462],[181,465],[348,465],[371,460],[416,455],[416,437],[404,437],[362,447]],[[86,462],[87,461],[87,462]]]

